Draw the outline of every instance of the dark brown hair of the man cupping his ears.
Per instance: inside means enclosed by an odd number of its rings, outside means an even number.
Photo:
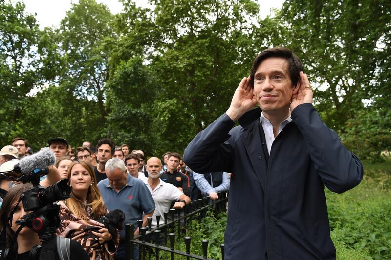
[[[259,65],[262,61],[271,57],[283,58],[287,61],[287,69],[290,80],[292,81],[292,85],[296,87],[297,83],[300,82],[299,73],[303,71],[302,62],[290,49],[282,47],[266,49],[255,57],[250,73],[251,87],[254,88],[254,76]]]

